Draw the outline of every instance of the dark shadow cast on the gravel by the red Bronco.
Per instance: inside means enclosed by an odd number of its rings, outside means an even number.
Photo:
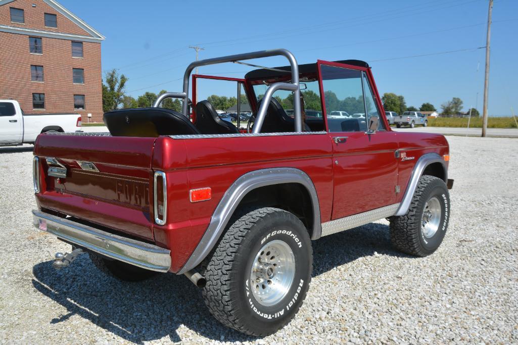
[[[391,248],[388,226],[376,223],[314,241],[313,252],[314,277],[375,252],[406,256]],[[165,336],[181,341],[177,333],[181,327],[213,340],[222,336],[225,341],[258,339],[216,321],[201,291],[185,277],[167,274],[145,282],[122,282],[97,270],[86,254],[61,271],[52,268],[52,261],[39,263],[33,267],[33,274],[35,289],[67,309],[66,314],[56,314],[49,320],[50,324],[65,322],[77,314],[134,343]]]

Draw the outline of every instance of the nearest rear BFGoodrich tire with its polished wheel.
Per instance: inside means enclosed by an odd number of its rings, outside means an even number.
[[[205,303],[239,332],[266,336],[299,310],[312,270],[311,240],[290,212],[265,207],[231,224],[205,271]]]

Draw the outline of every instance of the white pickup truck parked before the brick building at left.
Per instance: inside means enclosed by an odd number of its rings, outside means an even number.
[[[77,132],[81,130],[79,114],[24,114],[12,99],[0,99],[0,146],[34,143],[40,133]]]

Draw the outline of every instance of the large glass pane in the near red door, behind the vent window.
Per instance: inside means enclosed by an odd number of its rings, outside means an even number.
[[[329,132],[365,132],[362,72],[321,65],[322,87]]]

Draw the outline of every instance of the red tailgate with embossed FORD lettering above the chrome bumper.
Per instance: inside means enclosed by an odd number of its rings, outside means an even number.
[[[39,206],[152,240],[155,139],[87,133],[38,136],[34,154],[40,162]]]

